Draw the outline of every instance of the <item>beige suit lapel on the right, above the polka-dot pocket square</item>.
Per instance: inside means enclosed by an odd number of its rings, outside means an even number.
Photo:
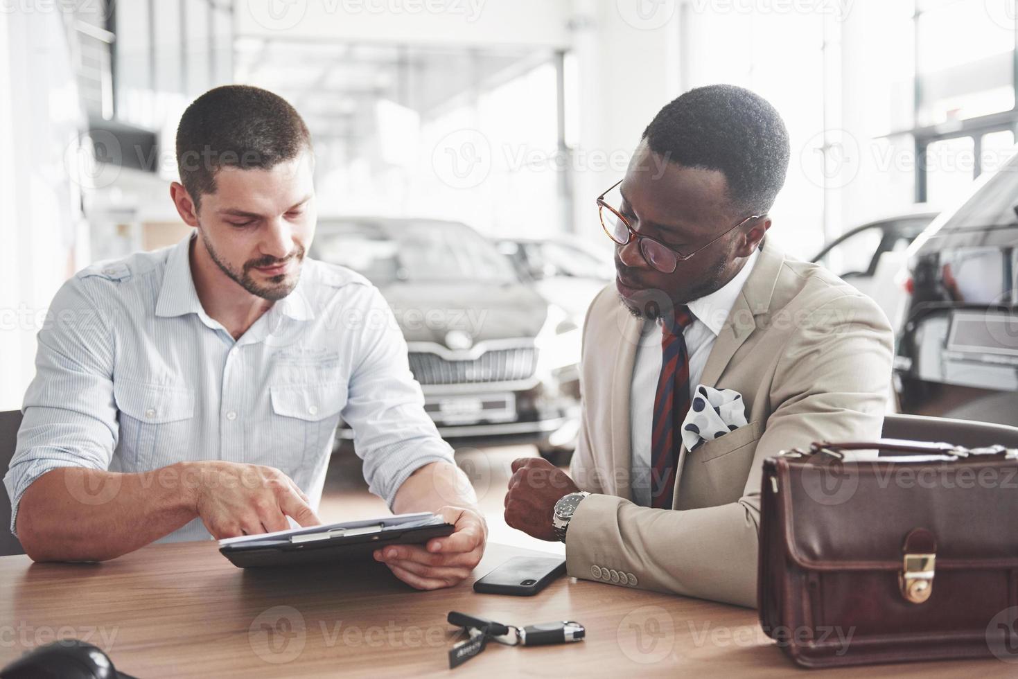
[[[698,384],[717,388],[718,380],[728,367],[732,356],[746,341],[749,334],[756,329],[754,317],[767,314],[771,307],[771,297],[778,284],[778,274],[781,273],[781,265],[784,262],[784,252],[773,243],[769,243],[760,249],[756,266],[742,286],[739,296],[728,313],[725,325],[721,328],[721,333],[718,334],[718,339],[715,340],[714,347],[711,348]],[[696,386],[690,385],[691,388],[696,388]],[[678,468],[675,471],[675,489],[672,496],[672,507],[676,509],[679,507],[679,480],[682,478],[688,452],[684,445],[679,449]]]

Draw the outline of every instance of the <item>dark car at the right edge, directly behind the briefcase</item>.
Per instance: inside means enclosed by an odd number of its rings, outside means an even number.
[[[909,248],[902,412],[1018,423],[1018,157]]]

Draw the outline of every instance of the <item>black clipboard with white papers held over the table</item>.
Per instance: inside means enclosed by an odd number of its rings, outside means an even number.
[[[219,541],[219,553],[238,568],[296,566],[371,559],[387,545],[423,545],[454,526],[431,512],[278,530]]]

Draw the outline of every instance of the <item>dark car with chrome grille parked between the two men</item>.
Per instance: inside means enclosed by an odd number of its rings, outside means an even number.
[[[310,257],[382,291],[443,438],[532,442],[559,460],[575,447],[579,328],[491,241],[458,222],[320,218]]]

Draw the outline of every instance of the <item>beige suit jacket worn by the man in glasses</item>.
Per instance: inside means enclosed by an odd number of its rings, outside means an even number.
[[[761,462],[813,441],[880,437],[891,328],[870,298],[768,242],[700,379],[742,394],[748,423],[692,452],[683,447],[673,509],[660,510],[629,500],[641,326],[614,283],[587,312],[570,473],[595,495],[569,524],[569,575],[753,607]]]

